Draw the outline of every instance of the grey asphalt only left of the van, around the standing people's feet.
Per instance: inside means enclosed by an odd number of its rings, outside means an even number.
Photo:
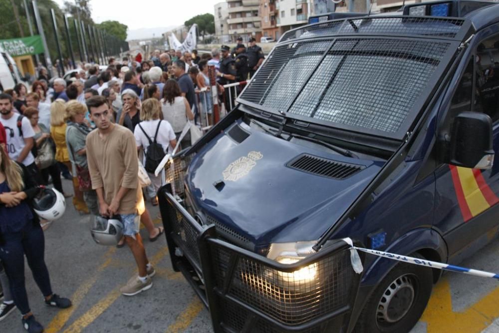
[[[63,180],[65,191],[71,183]],[[151,216],[159,213],[148,204]],[[160,224],[159,219],[155,220]],[[210,332],[208,312],[180,273],[171,269],[166,240],[148,240],[141,230],[149,259],[157,274],[153,287],[137,296],[125,297],[119,288],[136,274],[128,248],[104,247],[93,242],[89,216],[80,216],[68,200],[66,212],[45,231],[45,261],[54,293],[69,297],[66,310],[46,307],[26,265],[26,289],[31,311],[45,332]],[[1,333],[25,332],[16,310],[0,322]]]

